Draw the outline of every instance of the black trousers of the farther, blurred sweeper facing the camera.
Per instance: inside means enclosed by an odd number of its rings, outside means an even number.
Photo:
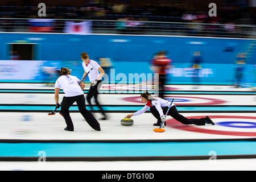
[[[98,102],[98,90],[101,88],[102,85],[102,80],[98,80],[97,84],[95,86],[90,86],[89,92],[86,96],[86,101],[88,102],[89,105],[92,105],[92,97],[95,99],[96,106],[100,108],[101,113],[106,117],[106,114],[104,110],[102,109],[100,103]],[[92,110],[92,106],[90,106],[90,109]]]

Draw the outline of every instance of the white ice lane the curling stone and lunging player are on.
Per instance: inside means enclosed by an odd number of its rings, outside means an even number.
[[[1,139],[63,139],[63,140],[132,140],[132,139],[212,139],[212,138],[251,138],[231,135],[204,134],[192,131],[184,131],[166,126],[164,133],[155,133],[152,126],[156,119],[151,113],[144,113],[136,117],[133,126],[122,126],[120,121],[130,113],[108,113],[108,121],[99,121],[101,131],[93,130],[80,113],[71,113],[75,131],[64,131],[65,121],[59,113],[48,115],[47,113],[1,113],[0,138]],[[233,115],[229,113],[182,113],[184,116],[201,115]],[[100,113],[94,113],[96,118],[102,117]],[[241,116],[253,116],[255,113],[236,113]],[[24,119],[24,118],[29,118]],[[167,117],[171,119],[170,116]],[[226,119],[212,119],[216,125],[196,126],[209,130],[256,132],[256,129],[233,129],[217,125]],[[238,119],[228,119],[237,121]],[[255,119],[243,119],[243,121],[255,122]],[[178,122],[177,122],[178,123]]]

